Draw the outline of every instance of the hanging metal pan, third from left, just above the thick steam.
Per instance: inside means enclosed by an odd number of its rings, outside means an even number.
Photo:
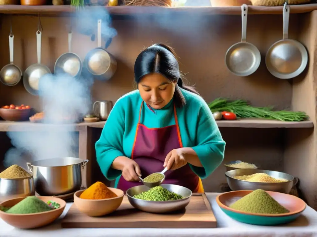
[[[82,63],[77,54],[72,52],[72,31],[68,33],[68,53],[62,54],[57,58],[54,65],[54,73],[67,73],[71,76],[81,74]]]

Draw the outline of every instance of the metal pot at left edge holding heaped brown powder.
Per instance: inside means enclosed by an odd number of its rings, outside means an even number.
[[[35,195],[33,176],[16,179],[0,179],[0,201]]]

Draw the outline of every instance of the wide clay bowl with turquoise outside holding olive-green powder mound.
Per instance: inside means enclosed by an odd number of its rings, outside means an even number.
[[[252,225],[276,226],[294,221],[306,208],[306,203],[293,195],[266,191],[279,204],[290,212],[285,214],[255,214],[234,210],[229,206],[251,193],[251,190],[231,191],[219,194],[216,198],[220,209],[232,219]]]

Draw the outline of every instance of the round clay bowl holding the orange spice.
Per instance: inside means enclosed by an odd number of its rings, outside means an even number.
[[[87,216],[104,216],[110,214],[117,210],[123,200],[124,193],[122,190],[117,188],[109,188],[118,197],[108,198],[108,199],[82,199],[79,196],[85,190],[80,190],[74,193],[74,204],[77,209]]]

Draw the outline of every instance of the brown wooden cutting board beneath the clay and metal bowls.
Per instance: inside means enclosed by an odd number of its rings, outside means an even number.
[[[216,228],[217,221],[210,203],[203,193],[193,194],[184,210],[153,214],[133,208],[124,196],[115,212],[101,217],[90,217],[73,204],[61,223],[62,228]]]

